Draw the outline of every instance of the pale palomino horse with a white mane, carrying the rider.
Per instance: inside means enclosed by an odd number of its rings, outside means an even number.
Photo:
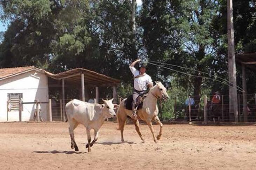
[[[137,115],[141,118],[141,120],[146,121],[148,124],[148,127],[150,128],[151,133],[153,134],[154,141],[157,143],[157,140],[161,138],[162,135],[162,127],[163,124],[159,120],[158,114],[158,108],[157,108],[157,98],[166,100],[169,98],[166,88],[163,86],[161,82],[156,82],[156,85],[152,87],[146,98],[144,99],[143,106],[140,110],[137,110]],[[125,101],[127,98],[123,99],[123,101],[120,103],[119,109],[117,110],[117,121],[119,124],[119,128],[121,131],[121,140],[124,142],[123,139],[123,128],[124,124],[126,122],[127,115],[132,117],[132,110],[125,109]],[[152,121],[155,121],[157,124],[160,125],[160,132],[159,135],[157,135],[157,138],[154,134],[154,129],[152,126]],[[144,142],[144,139],[142,137],[142,134],[140,133],[139,128],[139,120],[133,120],[133,123],[135,124],[135,129],[137,133],[140,135],[141,140]],[[156,140],[157,139],[157,140]]]

